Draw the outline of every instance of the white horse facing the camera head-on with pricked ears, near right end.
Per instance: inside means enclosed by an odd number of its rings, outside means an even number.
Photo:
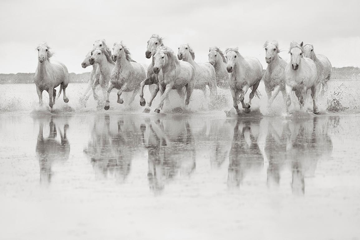
[[[301,44],[292,42],[290,44],[289,53],[291,54],[291,61],[285,67],[284,71],[287,112],[289,113],[289,107],[291,105],[291,91],[295,91],[295,94],[299,99],[300,108],[302,109],[305,103],[306,92],[311,89],[314,113],[318,114],[318,107],[315,103],[316,85],[318,83],[316,65],[312,59],[304,58],[303,42],[301,42]]]

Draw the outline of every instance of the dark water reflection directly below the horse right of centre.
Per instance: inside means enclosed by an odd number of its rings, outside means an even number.
[[[246,171],[260,170],[264,166],[264,157],[257,144],[258,128],[257,119],[237,119],[229,153],[228,187],[238,187]]]

